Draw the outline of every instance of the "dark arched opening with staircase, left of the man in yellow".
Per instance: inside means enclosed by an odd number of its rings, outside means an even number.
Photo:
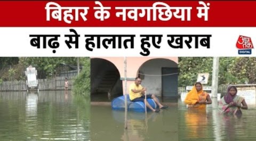
[[[91,101],[111,101],[123,95],[123,84],[115,64],[105,59],[91,59]]]

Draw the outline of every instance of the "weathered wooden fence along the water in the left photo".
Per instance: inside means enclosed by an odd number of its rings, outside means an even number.
[[[74,78],[68,78],[69,87],[73,89]],[[39,90],[63,90],[65,86],[65,77],[57,77],[54,79],[38,79]],[[0,85],[0,91],[22,91],[27,90],[27,83],[25,80],[22,81],[4,81]]]

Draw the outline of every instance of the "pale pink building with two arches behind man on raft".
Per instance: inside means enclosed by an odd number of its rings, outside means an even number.
[[[178,96],[178,57],[126,57],[127,93],[140,76],[147,94]],[[91,97],[125,94],[124,57],[91,57]],[[111,98],[110,98],[111,99]]]

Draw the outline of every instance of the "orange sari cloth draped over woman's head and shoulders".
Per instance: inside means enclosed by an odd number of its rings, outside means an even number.
[[[203,86],[202,89],[197,92],[196,90],[196,86],[194,85],[194,87],[188,92],[186,98],[185,98],[185,104],[188,104],[189,108],[193,108],[193,109],[205,109],[206,105],[205,104],[199,104],[196,102],[199,101],[206,101],[206,97],[207,97],[207,93],[203,91]]]

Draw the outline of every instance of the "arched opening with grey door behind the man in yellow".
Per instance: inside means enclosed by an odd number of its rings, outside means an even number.
[[[147,93],[162,97],[163,101],[178,99],[178,64],[169,59],[151,59],[143,63],[138,76]]]

